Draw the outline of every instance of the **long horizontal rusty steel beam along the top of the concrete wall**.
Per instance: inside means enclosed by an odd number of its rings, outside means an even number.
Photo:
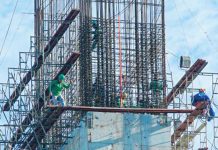
[[[49,106],[51,110],[62,109],[72,111],[92,111],[109,113],[192,113],[190,109],[162,109],[162,108],[114,108],[114,107],[89,107],[89,106]]]

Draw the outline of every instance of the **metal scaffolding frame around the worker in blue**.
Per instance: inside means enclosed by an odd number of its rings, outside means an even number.
[[[191,67],[192,68],[192,67]],[[190,69],[191,69],[190,68]],[[189,72],[186,71],[186,73]],[[189,86],[185,87],[184,90],[182,90],[182,93],[178,93],[174,96],[173,102],[170,104],[169,108],[174,109],[190,109],[191,106],[191,100],[190,96],[192,96],[195,92],[198,91],[200,88],[196,88],[196,82],[194,82],[194,79],[198,76],[198,78],[202,78],[203,80],[207,81],[207,84],[210,85],[209,92],[211,97],[211,102],[213,106],[217,105],[215,103],[215,99],[217,99],[217,81],[218,81],[218,74],[217,73],[208,73],[208,72],[195,72],[191,75],[191,80],[188,80],[186,78],[187,83],[189,83]],[[181,81],[181,80],[180,80]],[[179,82],[180,82],[179,81]],[[191,84],[190,84],[191,82]],[[201,85],[202,86],[202,85]],[[170,94],[170,93],[169,93]],[[181,97],[179,96],[181,95]],[[183,95],[183,96],[182,96]],[[214,117],[214,121],[207,123],[207,117],[204,117],[201,115],[202,109],[200,109],[201,106],[197,106],[195,110],[189,114],[189,115],[182,115],[182,114],[173,114],[173,134],[171,136],[171,142],[172,142],[172,149],[188,149],[188,148],[194,148],[194,145],[199,145],[199,149],[208,148],[208,141],[210,143],[210,146],[212,148],[217,147],[217,125],[215,123],[215,120],[217,117]],[[215,107],[214,107],[215,108]],[[213,122],[213,123],[212,123]],[[209,124],[209,127],[208,127]],[[208,128],[213,128],[213,133],[208,132]],[[210,139],[208,139],[210,137]],[[197,141],[194,139],[198,139]]]

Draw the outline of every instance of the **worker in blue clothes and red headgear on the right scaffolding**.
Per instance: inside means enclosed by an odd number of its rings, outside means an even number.
[[[204,116],[208,115],[208,121],[210,121],[215,116],[215,112],[211,107],[210,98],[205,94],[205,89],[203,89],[203,88],[200,88],[199,93],[192,96],[192,105],[193,106],[197,106],[201,102],[206,102],[206,106],[204,107],[202,114]],[[209,112],[208,112],[208,110],[209,110]]]

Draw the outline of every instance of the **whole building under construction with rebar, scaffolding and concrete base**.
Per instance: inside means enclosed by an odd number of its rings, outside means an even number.
[[[218,73],[202,72],[207,61],[198,59],[173,82],[164,4],[35,0],[30,50],[0,84],[0,149],[218,149],[218,119],[208,123],[204,104],[190,100],[200,78],[214,103]],[[73,84],[64,107],[50,106],[60,74]]]

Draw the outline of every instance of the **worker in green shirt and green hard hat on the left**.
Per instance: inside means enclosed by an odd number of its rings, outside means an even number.
[[[60,74],[58,80],[53,80],[49,85],[50,104],[64,106],[64,99],[61,92],[64,88],[68,89],[70,84],[64,82],[65,76]]]

